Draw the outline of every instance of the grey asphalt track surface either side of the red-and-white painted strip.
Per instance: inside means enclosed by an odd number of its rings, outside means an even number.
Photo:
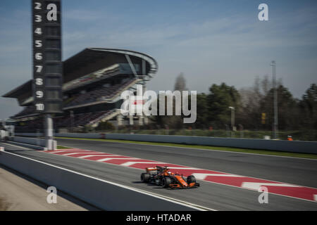
[[[58,139],[58,145],[317,188],[317,160],[75,139]],[[1,146],[19,155],[201,205],[211,210],[317,210],[317,202],[271,193],[268,194],[268,204],[260,204],[260,193],[257,191],[208,181],[199,181],[199,188],[167,190],[159,186],[142,184],[139,181],[141,169],[27,150],[4,143],[1,143]]]

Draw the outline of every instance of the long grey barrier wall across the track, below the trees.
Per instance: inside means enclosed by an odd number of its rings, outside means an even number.
[[[20,136],[35,136],[32,133],[15,134]],[[174,136],[151,134],[80,134],[65,133],[55,134],[56,137],[73,137],[86,139],[117,139],[128,141],[149,141],[161,143],[184,143],[202,146],[220,146],[232,148],[249,148],[259,150],[275,150],[292,153],[317,154],[317,141],[276,141],[264,139],[231,139],[214,138],[206,136]]]

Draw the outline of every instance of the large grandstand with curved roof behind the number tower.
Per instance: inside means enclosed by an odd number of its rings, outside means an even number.
[[[97,127],[108,121],[115,126],[147,123],[147,118],[120,115],[120,94],[136,91],[136,85],[146,85],[157,72],[151,56],[136,51],[89,48],[63,62],[63,113],[55,114],[54,130],[80,130]],[[16,98],[23,110],[13,115],[16,132],[43,130],[43,115],[35,113],[32,79],[4,94]]]

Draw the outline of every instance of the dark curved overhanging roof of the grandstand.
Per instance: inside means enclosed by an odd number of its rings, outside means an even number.
[[[144,80],[151,79],[158,70],[156,60],[144,53],[123,49],[87,48],[63,62],[63,82],[69,82],[115,63],[127,62],[145,65],[144,70],[142,68],[144,74],[139,76]],[[25,98],[26,95],[32,96],[32,79],[4,94],[3,97]],[[21,99],[18,100],[21,102]]]

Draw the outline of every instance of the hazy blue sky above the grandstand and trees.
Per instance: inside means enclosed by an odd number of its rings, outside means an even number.
[[[0,1],[1,95],[32,78],[30,0]],[[258,20],[268,4],[269,21]],[[130,49],[159,63],[148,84],[173,89],[183,72],[190,90],[220,82],[237,89],[277,75],[295,97],[317,82],[317,1],[63,0],[63,59],[86,47]],[[168,81],[168,82],[166,82]],[[18,112],[0,98],[0,118]]]

